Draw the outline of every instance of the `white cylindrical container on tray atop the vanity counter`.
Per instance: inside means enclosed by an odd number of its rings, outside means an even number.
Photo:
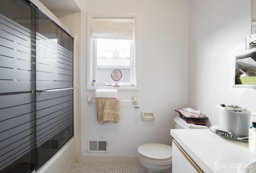
[[[250,111],[227,111],[220,109],[220,130],[231,132],[236,137],[248,137]]]

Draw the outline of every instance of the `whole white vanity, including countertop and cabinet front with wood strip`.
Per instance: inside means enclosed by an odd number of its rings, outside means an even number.
[[[242,163],[256,159],[248,141],[228,139],[209,129],[171,129],[170,133],[175,140],[172,173],[237,173]]]

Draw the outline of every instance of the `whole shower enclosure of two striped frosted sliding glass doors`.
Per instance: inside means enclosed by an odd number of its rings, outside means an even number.
[[[0,173],[38,170],[73,133],[73,38],[28,0],[0,6]]]

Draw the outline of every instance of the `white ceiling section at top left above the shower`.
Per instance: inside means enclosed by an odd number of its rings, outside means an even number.
[[[46,8],[51,12],[58,11],[70,11],[79,12],[80,7],[76,3],[76,0],[39,0]]]

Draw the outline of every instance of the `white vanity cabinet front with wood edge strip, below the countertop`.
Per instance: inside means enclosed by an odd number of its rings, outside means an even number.
[[[173,173],[204,173],[186,151],[173,139],[172,141]]]

